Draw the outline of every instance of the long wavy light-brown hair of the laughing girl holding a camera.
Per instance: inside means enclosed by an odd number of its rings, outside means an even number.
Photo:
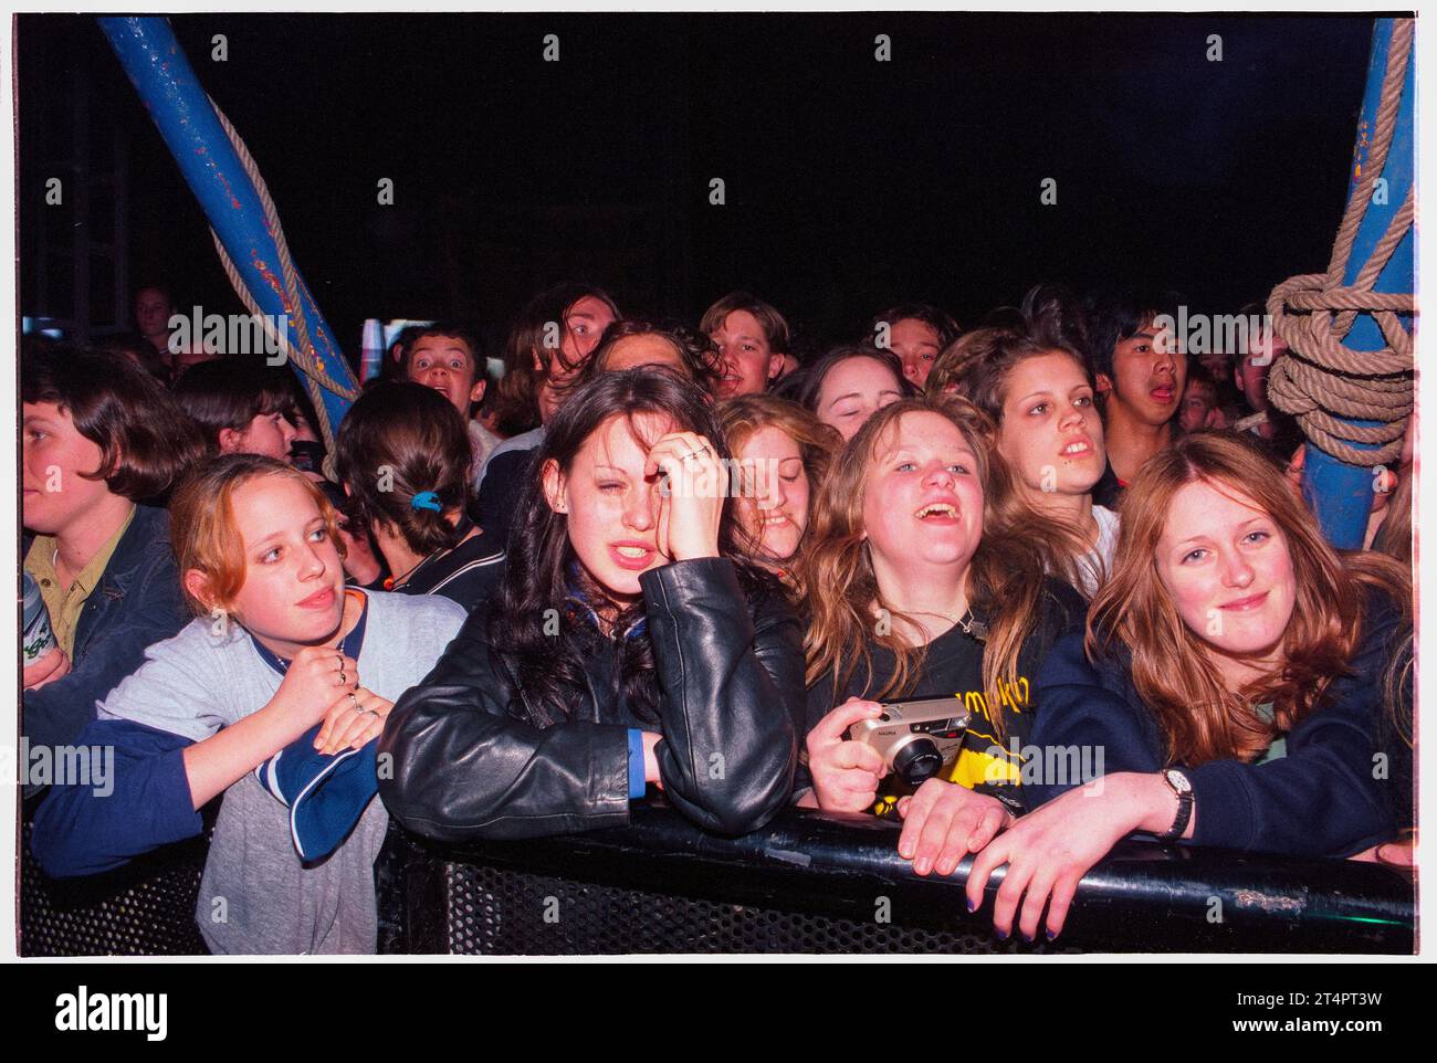
[[[890,626],[879,635],[874,616],[912,622],[884,602],[864,539],[864,496],[872,457],[884,435],[905,414],[931,412],[950,421],[973,450],[983,484],[983,537],[969,565],[967,596],[974,616],[989,626],[983,651],[983,687],[990,704],[1000,704],[1000,679],[1017,677],[1023,641],[1035,629],[1050,563],[1045,534],[1053,523],[1013,491],[1012,474],[993,445],[993,422],[971,402],[956,396],[907,398],[877,411],[844,447],[819,491],[809,523],[812,544],[798,565],[798,583],[810,622],[803,648],[808,656],[805,684],[833,675],[833,698],[848,685],[859,662],[872,685],[872,645],[888,649],[897,668],[869,697],[904,697],[912,692],[927,646],[910,646]],[[993,725],[1000,728],[996,714]]]

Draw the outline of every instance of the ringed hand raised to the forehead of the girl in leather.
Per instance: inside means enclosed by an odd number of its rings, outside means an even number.
[[[718,556],[718,521],[729,497],[729,473],[713,444],[696,432],[670,432],[648,451],[645,475],[662,473],[667,494],[658,510],[658,549],[675,562]]]

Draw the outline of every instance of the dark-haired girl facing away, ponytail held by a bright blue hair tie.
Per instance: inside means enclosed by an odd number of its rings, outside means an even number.
[[[466,609],[487,598],[504,550],[464,516],[468,432],[443,395],[421,384],[371,388],[339,425],[335,463],[346,510],[392,573],[385,590],[444,595]]]

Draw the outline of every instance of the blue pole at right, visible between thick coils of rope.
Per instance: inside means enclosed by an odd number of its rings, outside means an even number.
[[[1377,105],[1381,96],[1382,78],[1387,75],[1387,49],[1392,40],[1392,19],[1377,19],[1372,29],[1372,55],[1367,68],[1367,89],[1362,93],[1362,112],[1358,118],[1357,145],[1352,152],[1352,172],[1348,177],[1348,198],[1361,180],[1368,164],[1368,149],[1375,126]],[[1414,79],[1417,56],[1407,63],[1407,79],[1403,82],[1403,99],[1397,111],[1397,126],[1392,131],[1392,145],[1381,177],[1387,181],[1387,201],[1374,201],[1367,208],[1358,228],[1352,254],[1348,259],[1344,284],[1351,284],[1372,253],[1372,247],[1387,231],[1392,214],[1401,208],[1413,187],[1413,105],[1415,101]],[[1377,197],[1374,197],[1377,198]],[[1387,267],[1372,286],[1375,292],[1413,292],[1413,233],[1397,246]],[[1407,323],[1408,332],[1411,325]],[[1352,351],[1380,351],[1387,345],[1377,320],[1367,313],[1358,315],[1344,340]],[[1351,421],[1361,427],[1375,427],[1375,421]],[[1361,450],[1377,450],[1377,445],[1354,442]],[[1348,465],[1329,457],[1311,442],[1306,444],[1303,468],[1303,493],[1312,501],[1318,521],[1328,540],[1339,549],[1361,549],[1372,509],[1374,474],[1371,468]]]

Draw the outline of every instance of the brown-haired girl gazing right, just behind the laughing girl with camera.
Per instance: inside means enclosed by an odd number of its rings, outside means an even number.
[[[977,329],[958,346],[957,391],[997,425],[997,448],[1017,496],[1062,526],[1062,576],[1085,598],[1106,577],[1118,514],[1092,501],[1106,467],[1094,375],[1065,328],[1078,315],[1059,292],[1036,287],[1010,328]]]

